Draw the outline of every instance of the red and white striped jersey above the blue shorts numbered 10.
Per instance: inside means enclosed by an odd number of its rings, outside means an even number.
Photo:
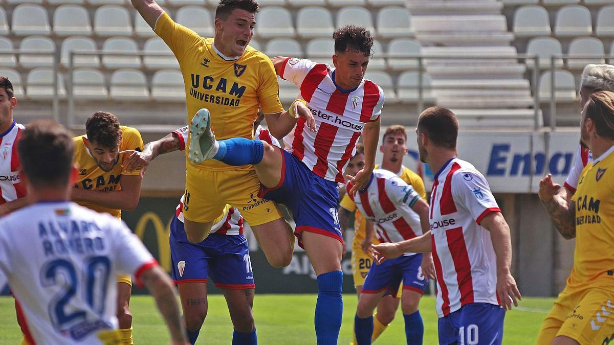
[[[500,305],[497,257],[491,233],[480,225],[490,212],[500,212],[488,182],[471,163],[453,158],[435,175],[430,195],[437,315],[469,303]]]

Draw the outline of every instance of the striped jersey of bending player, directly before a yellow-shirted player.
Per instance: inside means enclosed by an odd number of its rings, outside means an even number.
[[[394,243],[422,235],[420,216],[411,209],[420,195],[397,174],[375,169],[367,187],[356,196],[349,193],[352,187],[351,183],[346,185],[348,196],[373,223],[379,242]]]

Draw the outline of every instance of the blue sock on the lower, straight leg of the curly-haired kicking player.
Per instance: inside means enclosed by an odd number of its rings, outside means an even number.
[[[316,338],[317,345],[336,345],[343,316],[341,285],[343,272],[332,271],[317,276]]]

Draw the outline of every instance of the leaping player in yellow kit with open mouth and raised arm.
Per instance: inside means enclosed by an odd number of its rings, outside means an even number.
[[[279,85],[271,60],[250,47],[254,35],[254,0],[222,0],[216,8],[215,36],[204,38],[175,23],[153,0],[132,0],[144,20],[171,48],[184,76],[188,122],[201,108],[212,115],[216,139],[254,138],[252,123],[258,107],[265,114],[271,134],[285,136],[278,128],[292,128],[294,116],[279,102]],[[291,107],[301,117],[312,117],[300,102]],[[207,111],[207,110],[203,110]],[[292,114],[293,115],[293,114]],[[314,128],[313,128],[314,129]],[[192,136],[192,131],[190,136]],[[187,146],[192,147],[192,139]],[[195,146],[198,143],[195,142]],[[189,157],[191,149],[187,149]],[[226,204],[241,211],[271,265],[287,266],[292,246],[279,207],[258,197],[260,181],[254,166],[229,166],[220,161],[193,165],[188,160],[185,175],[185,231],[189,241],[198,243],[211,231]]]

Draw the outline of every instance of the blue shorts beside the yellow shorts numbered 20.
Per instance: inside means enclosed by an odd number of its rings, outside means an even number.
[[[426,281],[422,276],[422,254],[389,259],[373,264],[369,269],[361,293],[380,293],[397,297],[398,286],[403,281],[403,290],[411,290],[424,295]]]

